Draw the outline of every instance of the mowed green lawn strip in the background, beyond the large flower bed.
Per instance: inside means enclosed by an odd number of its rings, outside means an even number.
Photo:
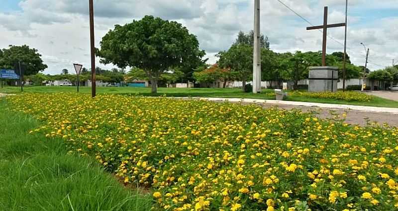
[[[76,87],[63,86],[27,86],[25,92],[54,93],[76,92]],[[91,87],[80,87],[81,93],[90,93]],[[0,93],[20,93],[19,87],[0,88]],[[253,94],[242,92],[240,88],[158,88],[157,94],[151,93],[151,88],[140,87],[97,87],[98,94],[132,94],[138,96],[168,96],[168,97],[224,97],[224,98],[251,98],[275,100],[273,89],[263,89],[262,93]],[[369,102],[346,101],[336,99],[313,98],[305,96],[288,96],[286,100],[314,103],[347,104],[375,107],[398,108],[398,102],[374,96]]]

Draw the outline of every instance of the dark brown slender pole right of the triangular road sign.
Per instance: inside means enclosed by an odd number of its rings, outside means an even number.
[[[96,49],[94,39],[94,3],[89,0],[90,10],[90,46],[91,46],[91,96],[96,97]]]

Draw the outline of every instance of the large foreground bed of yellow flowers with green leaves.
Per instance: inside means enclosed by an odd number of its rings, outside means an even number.
[[[12,108],[125,183],[155,210],[398,210],[398,128],[199,100],[24,94]]]

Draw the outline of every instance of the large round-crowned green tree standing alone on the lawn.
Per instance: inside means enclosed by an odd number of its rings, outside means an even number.
[[[116,25],[100,42],[101,63],[144,70],[157,92],[159,77],[179,67],[199,51],[197,37],[175,21],[145,16],[124,26]]]

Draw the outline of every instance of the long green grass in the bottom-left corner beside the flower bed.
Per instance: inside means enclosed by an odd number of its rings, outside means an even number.
[[[29,135],[40,123],[0,98],[1,211],[148,211],[152,198],[123,187],[62,140]]]

